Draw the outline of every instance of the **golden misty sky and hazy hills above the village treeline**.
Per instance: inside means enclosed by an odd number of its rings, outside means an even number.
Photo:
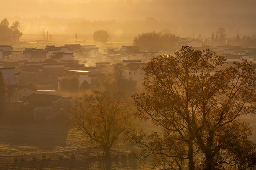
[[[42,27],[49,34],[77,33],[82,40],[95,30],[120,38],[150,31],[210,38],[219,27],[228,37],[235,37],[237,30],[240,36],[256,34],[255,0],[0,0],[0,4],[0,18],[21,22],[23,38],[41,34]]]

